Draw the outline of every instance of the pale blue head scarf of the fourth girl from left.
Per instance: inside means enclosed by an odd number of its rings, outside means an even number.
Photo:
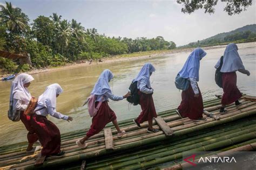
[[[137,88],[138,89],[139,89],[139,86],[140,86],[141,82],[144,82],[145,84],[147,84],[148,88],[151,88],[150,73],[153,73],[154,71],[156,71],[154,66],[150,62],[146,62],[144,64],[144,66],[142,67],[142,69],[140,70],[137,77],[132,82],[138,81],[137,82]]]

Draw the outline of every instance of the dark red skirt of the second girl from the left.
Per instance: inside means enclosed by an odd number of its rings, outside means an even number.
[[[41,155],[52,155],[60,152],[60,132],[55,124],[45,116],[31,115],[31,125],[36,131],[40,143],[43,146]]]

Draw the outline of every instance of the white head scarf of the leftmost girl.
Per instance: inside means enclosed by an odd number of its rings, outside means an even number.
[[[12,101],[13,98],[15,98],[17,100],[23,101],[25,104],[29,104],[31,94],[29,93],[29,90],[26,87],[24,87],[24,84],[29,83],[33,80],[34,78],[29,74],[19,74],[14,79],[14,81],[12,81],[10,101]]]

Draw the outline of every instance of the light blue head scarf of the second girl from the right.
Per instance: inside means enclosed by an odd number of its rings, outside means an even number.
[[[184,79],[192,78],[199,81],[200,60],[206,54],[207,53],[202,48],[194,49],[190,56],[188,56],[183,68],[180,70],[180,77],[183,77]]]

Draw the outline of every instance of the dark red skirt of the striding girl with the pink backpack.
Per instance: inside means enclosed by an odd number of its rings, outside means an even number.
[[[98,103],[99,102],[96,102],[95,107],[97,107]],[[103,102],[102,105],[100,105],[99,110],[97,111],[97,114],[93,116],[91,128],[86,133],[86,136],[91,137],[99,133],[101,130],[105,128],[106,124],[116,119],[117,119],[117,116],[116,114],[114,114],[114,111],[111,110],[111,108],[109,107],[109,104],[107,104],[107,101]]]

